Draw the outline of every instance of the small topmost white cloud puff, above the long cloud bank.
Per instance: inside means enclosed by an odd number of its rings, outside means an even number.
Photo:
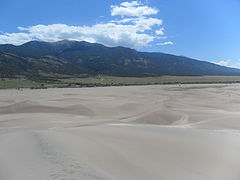
[[[158,10],[156,8],[152,8],[146,5],[143,5],[142,3],[138,1],[132,1],[132,2],[123,2],[118,5],[112,5],[111,6],[111,14],[112,16],[149,16],[153,14],[157,14]]]

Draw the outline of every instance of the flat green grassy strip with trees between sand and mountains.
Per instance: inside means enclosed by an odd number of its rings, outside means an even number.
[[[159,76],[159,77],[34,77],[0,79],[0,89],[12,88],[66,88],[66,87],[97,87],[127,86],[154,84],[213,84],[240,83],[240,76]],[[205,88],[205,86],[203,87]]]

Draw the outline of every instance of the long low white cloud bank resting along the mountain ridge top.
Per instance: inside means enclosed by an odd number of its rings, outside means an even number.
[[[138,25],[122,25],[114,23],[96,24],[94,26],[68,26],[66,24],[36,25],[19,28],[26,33],[10,33],[0,35],[0,43],[23,44],[31,40],[59,41],[63,39],[97,42],[107,46],[142,47],[154,40]]]

